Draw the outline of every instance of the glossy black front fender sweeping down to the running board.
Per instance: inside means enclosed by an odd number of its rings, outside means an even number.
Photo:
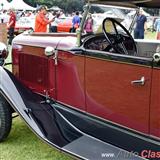
[[[0,92],[32,131],[51,145],[61,148],[82,135],[65,123],[45,97],[32,92],[3,67],[0,67]]]

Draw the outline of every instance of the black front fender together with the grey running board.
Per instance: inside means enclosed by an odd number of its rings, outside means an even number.
[[[143,159],[81,131],[64,116],[58,103],[46,101],[45,97],[32,92],[3,67],[0,67],[0,94],[39,138],[63,152],[80,159],[110,159],[112,156],[116,160],[124,159],[125,155],[129,155],[126,160]]]

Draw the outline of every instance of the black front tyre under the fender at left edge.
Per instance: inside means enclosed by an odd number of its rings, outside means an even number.
[[[11,106],[5,100],[5,98],[0,95],[0,142],[5,140],[10,133],[12,125],[12,112]]]

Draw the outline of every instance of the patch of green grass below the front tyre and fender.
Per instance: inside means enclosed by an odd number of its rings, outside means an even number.
[[[73,158],[42,142],[20,118],[15,118],[9,137],[0,144],[0,160],[73,160]]]

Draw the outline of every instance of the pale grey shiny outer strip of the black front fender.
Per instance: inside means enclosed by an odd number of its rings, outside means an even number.
[[[23,117],[27,124],[34,129],[40,137],[45,138],[33,118],[27,114],[28,108],[14,84],[13,75],[3,67],[0,67],[0,93],[6,98],[13,109]]]

